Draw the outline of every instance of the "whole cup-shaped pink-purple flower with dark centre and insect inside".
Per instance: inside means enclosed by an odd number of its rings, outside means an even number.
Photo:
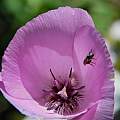
[[[112,120],[113,66],[88,13],[61,7],[20,28],[2,60],[0,87],[35,118]]]

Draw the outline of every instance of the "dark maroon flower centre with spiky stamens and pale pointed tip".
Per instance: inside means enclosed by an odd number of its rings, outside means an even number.
[[[53,85],[49,91],[44,90],[47,110],[54,110],[61,115],[72,114],[79,109],[80,99],[83,99],[83,94],[80,94],[80,91],[85,86],[78,87],[78,81],[72,76],[72,68],[69,78],[65,80],[57,80],[51,69],[50,73],[54,79]]]

